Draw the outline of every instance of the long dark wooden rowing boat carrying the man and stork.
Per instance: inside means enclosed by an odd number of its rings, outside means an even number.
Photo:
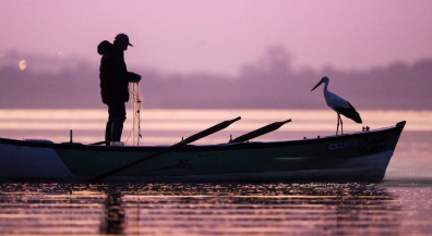
[[[218,145],[190,142],[226,126],[173,146],[0,138],[0,181],[380,182],[405,124],[299,140],[250,140],[262,135],[257,132]]]

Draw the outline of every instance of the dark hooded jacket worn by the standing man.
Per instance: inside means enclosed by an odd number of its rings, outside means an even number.
[[[104,103],[129,101],[129,82],[136,82],[136,74],[128,72],[123,50],[105,40],[97,46],[101,55],[99,78],[100,96]]]

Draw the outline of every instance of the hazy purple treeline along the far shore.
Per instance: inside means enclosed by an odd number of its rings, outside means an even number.
[[[331,78],[328,89],[357,110],[432,109],[432,59],[364,71],[296,71],[289,53],[273,47],[255,63],[244,64],[235,77],[167,75],[156,70],[136,73],[143,75],[140,88],[145,109],[323,109],[322,88],[311,89],[324,75]],[[0,108],[105,108],[97,63],[74,62],[57,71],[20,71],[3,64],[0,83]]]

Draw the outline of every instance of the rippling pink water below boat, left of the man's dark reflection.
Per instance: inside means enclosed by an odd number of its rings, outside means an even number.
[[[0,184],[4,235],[97,234],[106,196],[84,186]]]

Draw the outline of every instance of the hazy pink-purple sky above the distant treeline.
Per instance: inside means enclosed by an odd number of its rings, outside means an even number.
[[[118,33],[135,46],[131,71],[233,75],[269,46],[296,69],[361,70],[432,55],[432,1],[3,0],[0,58],[8,51],[82,57]],[[19,63],[19,62],[16,62]]]

